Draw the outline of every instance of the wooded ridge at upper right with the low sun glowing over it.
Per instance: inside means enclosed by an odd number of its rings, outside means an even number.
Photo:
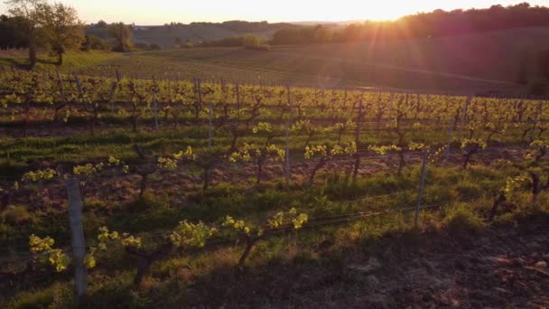
[[[522,3],[465,11],[436,10],[392,22],[351,23],[342,30],[323,25],[292,26],[277,31],[271,43],[395,41],[539,26],[549,26],[549,7]]]

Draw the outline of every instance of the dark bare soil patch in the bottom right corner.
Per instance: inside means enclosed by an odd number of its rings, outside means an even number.
[[[349,245],[337,263],[328,261],[328,244],[312,252],[315,262],[286,257],[292,262],[245,278],[199,279],[187,300],[227,308],[548,308],[548,223],[397,235],[376,248]]]

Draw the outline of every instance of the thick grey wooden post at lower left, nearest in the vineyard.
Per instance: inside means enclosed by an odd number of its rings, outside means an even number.
[[[84,257],[86,256],[86,243],[84,240],[84,227],[82,224],[82,197],[80,195],[80,184],[77,178],[69,178],[65,181],[69,200],[69,220],[72,240],[72,255],[74,261],[74,283],[78,298],[86,295],[86,267]]]

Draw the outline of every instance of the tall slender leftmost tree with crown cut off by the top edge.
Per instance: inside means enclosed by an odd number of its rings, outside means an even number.
[[[9,0],[9,13],[20,21],[19,29],[29,45],[30,67],[36,65],[37,33],[40,25],[40,15],[47,5],[43,0]]]

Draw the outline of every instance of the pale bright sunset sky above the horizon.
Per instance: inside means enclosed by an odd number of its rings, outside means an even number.
[[[57,0],[72,5],[86,23],[105,20],[138,25],[171,22],[223,22],[228,20],[302,22],[391,20],[406,14],[490,5],[515,5],[525,0]],[[549,5],[549,0],[531,0]],[[0,13],[5,13],[0,0]]]

